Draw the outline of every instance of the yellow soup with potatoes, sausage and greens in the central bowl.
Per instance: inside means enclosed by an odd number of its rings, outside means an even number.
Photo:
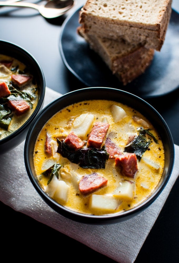
[[[109,100],[75,103],[53,115],[38,135],[33,161],[52,199],[93,215],[145,201],[165,162],[155,127],[135,109]]]

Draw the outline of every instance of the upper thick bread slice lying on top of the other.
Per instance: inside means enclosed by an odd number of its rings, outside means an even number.
[[[171,17],[172,0],[87,0],[79,12],[84,33],[160,51]]]

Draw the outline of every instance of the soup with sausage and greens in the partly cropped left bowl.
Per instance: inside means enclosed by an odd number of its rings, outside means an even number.
[[[38,87],[26,65],[0,54],[0,140],[19,129],[38,102]]]

